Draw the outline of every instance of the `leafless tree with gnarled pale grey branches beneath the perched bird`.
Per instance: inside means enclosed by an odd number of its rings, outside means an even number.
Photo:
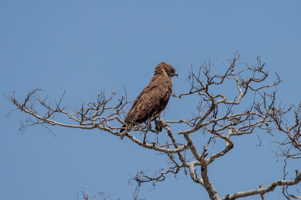
[[[275,144],[278,145],[278,151],[275,152],[278,158],[298,159],[301,157],[301,103],[298,106],[277,104],[275,91],[271,94],[264,91],[264,89],[273,88],[281,82],[277,73],[275,73],[275,82],[265,85],[263,82],[267,79],[268,72],[264,70],[265,64],[261,63],[260,57],[257,57],[255,66],[248,66],[240,63],[239,55],[236,54],[234,58],[224,61],[224,65],[228,64],[229,67],[226,67],[222,74],[212,75],[213,64],[210,61],[208,64],[206,62],[202,64],[197,71],[194,71],[191,65],[187,79],[191,86],[190,90],[179,95],[173,94],[177,98],[199,95],[200,103],[197,105],[197,112],[190,119],[185,120],[178,116],[178,121],[168,121],[158,116],[158,120],[149,120],[145,125],[132,128],[131,133],[119,133],[120,127],[124,124],[122,119],[131,102],[127,101],[126,97],[114,101],[113,98],[116,98],[115,91],[111,92],[109,98],[102,91],[101,94],[97,95],[96,102],[89,102],[88,100],[82,102],[79,107],[62,107],[61,100],[58,102],[47,101],[47,96],[45,98],[40,96],[41,89],[33,89],[23,101],[17,100],[14,92],[8,98],[17,106],[14,110],[21,110],[27,114],[21,121],[20,130],[22,133],[26,127],[35,124],[80,129],[96,128],[119,137],[126,136],[141,147],[166,154],[169,160],[168,170],[160,169],[154,177],[146,176],[144,170],[138,172],[136,176],[132,176],[132,180],[138,183],[134,199],[138,199],[138,191],[142,183],[152,182],[155,186],[156,182],[165,180],[166,174],[171,173],[176,177],[178,173],[182,172],[181,169],[184,169],[186,175],[189,174],[195,183],[200,184],[207,191],[210,199],[232,200],[257,194],[260,194],[261,198],[264,199],[264,194],[273,191],[277,186],[283,186],[283,195],[289,199],[288,193],[286,195],[284,190],[301,181],[301,171],[296,170],[295,177],[292,177],[291,180],[285,180],[287,174],[284,167],[284,180],[275,180],[266,187],[261,184],[259,188],[228,194],[224,197],[219,196],[219,191],[215,189],[214,183],[211,183],[207,173],[211,163],[226,156],[234,148],[232,136],[257,134],[259,131],[273,134],[273,130],[278,130],[287,135],[287,140],[275,141]],[[243,66],[244,69],[241,69]],[[215,89],[225,84],[234,85],[238,95],[227,97],[221,94],[222,92],[217,93],[218,90]],[[240,102],[246,98],[252,101],[248,108],[242,109]],[[112,102],[115,103],[112,105]],[[294,110],[295,121],[290,123],[286,120],[285,115],[291,110]],[[44,114],[41,115],[40,113]],[[66,118],[56,121],[57,115],[63,115]],[[186,128],[184,130],[172,130],[170,126],[175,123],[183,124],[182,127]],[[159,134],[162,128],[167,132],[167,139],[164,134]],[[207,141],[194,141],[191,138],[193,134],[202,133],[210,134]],[[225,144],[222,151],[208,155],[208,146],[218,140]],[[203,148],[198,149],[197,146],[200,146],[198,143],[201,142],[203,142]],[[191,155],[192,158],[187,158],[187,155]]]

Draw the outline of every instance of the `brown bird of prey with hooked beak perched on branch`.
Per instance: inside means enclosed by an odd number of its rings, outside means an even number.
[[[149,118],[158,116],[167,106],[172,92],[172,76],[177,76],[175,69],[165,62],[160,62],[155,68],[155,74],[149,84],[142,90],[129,110],[120,133],[124,127],[131,128],[142,124]],[[123,136],[120,137],[123,139]]]

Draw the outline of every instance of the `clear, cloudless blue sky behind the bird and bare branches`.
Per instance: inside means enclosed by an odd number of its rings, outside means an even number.
[[[271,72],[269,80],[275,77],[273,71],[281,74],[278,100],[298,104],[300,7],[300,1],[1,1],[1,93],[16,91],[22,100],[30,87],[42,88],[44,95],[59,99],[66,91],[62,103],[70,106],[103,89],[121,89],[120,98],[125,84],[128,99],[134,100],[157,63],[165,61],[179,74],[173,82],[180,94],[188,89],[189,62],[197,68],[211,58],[215,70],[222,72],[223,61],[239,51],[241,61],[250,65],[261,55]],[[171,98],[165,119],[190,116],[197,106],[191,102],[199,101],[198,96],[191,98]],[[169,167],[157,152],[99,130],[48,126],[54,137],[33,126],[24,140],[19,122],[25,113],[12,112],[7,120],[5,115],[15,107],[3,96],[0,100],[1,199],[76,199],[81,187],[89,196],[107,190],[106,195],[115,194],[112,199],[132,199],[135,183],[128,185],[127,174],[147,168],[151,176]],[[276,162],[271,151],[277,149],[270,144],[275,137],[258,134],[262,146],[256,147],[256,134],[236,138],[234,149],[209,166],[220,196],[283,179],[284,162]],[[200,147],[207,141],[202,138]],[[210,146],[212,152],[219,148]],[[290,161],[287,178],[301,170],[300,163]],[[233,179],[227,180],[229,176]],[[184,172],[178,178],[168,175],[150,192],[151,185],[145,184],[139,197],[208,199],[204,188]],[[280,193],[278,188],[266,199],[277,199]],[[255,198],[260,196],[246,199]]]

